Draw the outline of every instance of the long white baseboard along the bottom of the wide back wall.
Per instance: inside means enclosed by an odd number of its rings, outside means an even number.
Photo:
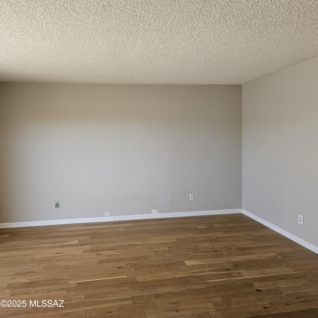
[[[14,222],[14,223],[0,223],[0,229],[36,227],[36,226],[44,226],[44,225],[62,225],[62,224],[79,224],[79,223],[95,223],[95,222],[180,218],[180,217],[194,217],[194,216],[220,215],[220,214],[237,214],[237,213],[242,213],[242,210],[241,209],[210,210],[210,211],[172,212],[172,213],[158,213],[158,214],[136,214],[136,215],[113,216],[113,217],[96,217],[96,218],[80,218],[80,219],[65,219],[65,220]]]

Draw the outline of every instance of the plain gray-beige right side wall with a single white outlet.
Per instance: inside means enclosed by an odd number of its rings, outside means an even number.
[[[242,86],[242,207],[316,246],[317,75],[315,58]]]

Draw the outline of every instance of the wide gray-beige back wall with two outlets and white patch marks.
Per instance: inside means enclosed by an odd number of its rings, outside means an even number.
[[[241,208],[239,85],[1,83],[0,100],[0,223]]]

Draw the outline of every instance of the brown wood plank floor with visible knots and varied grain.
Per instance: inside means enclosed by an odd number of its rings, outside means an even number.
[[[1,229],[0,301],[0,318],[318,318],[318,255],[242,214]]]

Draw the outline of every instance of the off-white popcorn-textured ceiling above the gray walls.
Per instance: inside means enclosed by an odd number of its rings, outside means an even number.
[[[318,0],[0,0],[0,81],[242,84],[318,56]]]

